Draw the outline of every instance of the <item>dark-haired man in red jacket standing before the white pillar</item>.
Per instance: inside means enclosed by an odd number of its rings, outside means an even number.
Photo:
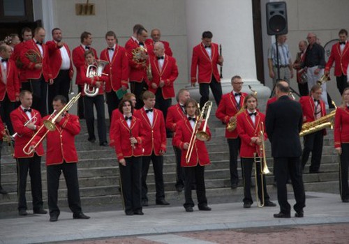
[[[202,33],[202,42],[193,48],[191,57],[191,85],[198,82],[200,86],[200,107],[209,100],[209,87],[214,94],[217,106],[222,98],[221,78],[217,64],[223,66],[223,57],[218,54],[218,45],[212,43],[211,31]],[[198,72],[197,72],[198,70]],[[196,74],[198,73],[198,77]]]

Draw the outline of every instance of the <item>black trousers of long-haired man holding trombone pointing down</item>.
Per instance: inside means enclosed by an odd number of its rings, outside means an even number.
[[[243,181],[244,181],[244,204],[253,204],[253,199],[251,196],[251,175],[252,175],[252,169],[254,164],[253,158],[241,158],[242,160],[242,174],[243,174]],[[269,201],[269,195],[267,192],[267,181],[265,181],[265,175],[261,174],[262,171],[260,167],[260,162],[256,163],[257,165],[257,187],[258,187],[258,198],[262,202]],[[263,180],[263,184],[262,184]],[[263,195],[264,199],[262,197],[262,185],[263,185]],[[256,199],[257,201],[257,199]]]

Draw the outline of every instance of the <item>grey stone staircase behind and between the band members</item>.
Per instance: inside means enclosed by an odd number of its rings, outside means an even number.
[[[215,110],[215,109],[214,109]],[[80,183],[80,196],[82,206],[86,208],[118,206],[121,208],[121,195],[119,194],[119,169],[116,160],[114,148],[98,146],[98,143],[91,144],[87,142],[87,129],[84,121],[81,121],[82,132],[75,138],[75,144],[79,155],[78,175]],[[205,169],[205,181],[207,188],[207,199],[220,199],[222,197],[235,197],[235,201],[242,201],[243,188],[240,185],[237,189],[230,189],[229,174],[229,153],[228,144],[224,137],[224,125],[214,116],[212,112],[209,119],[212,138],[207,142],[211,165]],[[174,151],[172,148],[172,139],[168,139],[168,151],[164,156],[163,174],[165,180],[166,199],[172,205],[180,205],[184,201],[183,192],[178,193],[174,188],[176,181],[176,168],[174,162]],[[271,148],[269,141],[266,143],[267,162],[269,170],[273,171],[273,159],[271,157]],[[8,153],[8,146],[3,146],[1,152],[1,183],[8,195],[0,195],[0,213],[17,211],[17,174],[15,160]],[[47,206],[47,183],[45,170],[45,157],[42,160],[42,178],[43,178],[43,199],[45,207]],[[339,166],[338,156],[333,147],[333,132],[328,130],[328,135],[324,139],[324,148],[322,152],[322,162],[319,174],[308,174],[309,164],[304,170],[304,185],[307,191],[317,192],[339,192]],[[240,163],[239,163],[240,165]],[[239,167],[239,177],[241,178],[241,168]],[[253,180],[254,181],[254,180]],[[276,188],[273,187],[274,176],[267,175],[267,188],[269,195],[276,196]],[[152,168],[149,168],[147,178],[149,188],[149,204],[155,203],[155,183]],[[292,187],[289,185],[289,190]],[[61,176],[59,189],[59,206],[66,207],[66,183]],[[274,198],[275,199],[275,198]],[[27,202],[31,208],[30,183],[27,183]]]

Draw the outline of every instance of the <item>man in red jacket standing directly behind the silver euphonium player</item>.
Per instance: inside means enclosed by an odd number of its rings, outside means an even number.
[[[73,64],[76,68],[75,84],[81,84],[82,73],[80,73],[81,67],[85,66],[85,56],[84,53],[88,50],[94,52],[95,59],[98,59],[96,49],[91,47],[92,44],[92,34],[84,31],[80,36],[80,45],[75,47],[72,52]],[[81,92],[83,89],[81,86],[77,86],[77,91]],[[84,119],[84,102],[82,100],[77,101],[77,115],[80,119]]]

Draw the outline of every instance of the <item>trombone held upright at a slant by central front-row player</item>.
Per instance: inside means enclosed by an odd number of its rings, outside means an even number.
[[[208,141],[210,138],[209,134],[206,132],[206,128],[207,128],[207,121],[209,119],[209,113],[211,112],[211,107],[212,107],[212,102],[207,101],[207,102],[205,102],[205,105],[202,107],[202,110],[200,112],[200,105],[198,105],[200,115],[196,116],[196,121],[194,124],[193,133],[191,134],[191,140],[189,141],[188,151],[186,151],[186,163],[187,164],[188,164],[189,160],[191,159],[191,153],[193,153],[196,139],[199,139],[200,141],[205,142],[205,141]],[[206,114],[206,116],[205,116],[205,114]],[[202,121],[204,116],[205,116],[204,127],[202,128],[202,130],[199,131],[198,128],[196,128],[196,125],[198,125],[198,121]]]

